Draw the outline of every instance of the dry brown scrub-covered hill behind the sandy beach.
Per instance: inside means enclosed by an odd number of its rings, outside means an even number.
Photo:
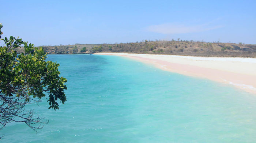
[[[84,48],[85,47],[85,48]],[[189,56],[256,57],[256,45],[243,43],[207,43],[204,41],[148,41],[117,44],[75,44],[42,46],[50,54],[125,52]],[[22,52],[22,51],[18,51]]]

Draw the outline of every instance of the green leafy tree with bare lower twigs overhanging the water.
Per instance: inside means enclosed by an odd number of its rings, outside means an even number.
[[[0,24],[0,38],[3,32]],[[49,95],[49,109],[59,109],[59,104],[67,100],[64,85],[67,79],[60,77],[60,64],[45,61],[47,53],[40,47],[27,44],[13,36],[5,37],[0,46],[0,130],[10,122],[24,122],[30,128],[42,128],[42,117],[34,116],[33,110],[26,111],[25,105],[40,102]],[[17,55],[15,48],[24,46],[25,53]]]

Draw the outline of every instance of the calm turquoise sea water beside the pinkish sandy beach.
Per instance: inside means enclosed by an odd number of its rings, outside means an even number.
[[[68,79],[67,102],[38,133],[10,123],[6,143],[255,143],[256,96],[125,57],[48,55]]]

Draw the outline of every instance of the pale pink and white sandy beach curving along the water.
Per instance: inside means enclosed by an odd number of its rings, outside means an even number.
[[[153,64],[165,71],[206,78],[256,95],[256,59],[241,57],[193,57],[133,53],[97,53],[124,56]]]

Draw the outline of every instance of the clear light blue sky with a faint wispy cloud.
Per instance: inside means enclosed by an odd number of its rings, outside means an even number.
[[[256,44],[256,1],[0,1],[2,37],[39,45],[141,40]]]

